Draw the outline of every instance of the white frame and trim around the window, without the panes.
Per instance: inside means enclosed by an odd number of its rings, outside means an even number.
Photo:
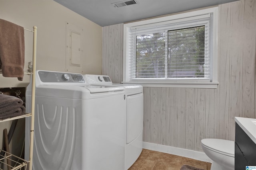
[[[164,22],[168,21],[174,21],[174,20],[189,20],[190,18],[197,17],[197,16],[203,16],[213,14],[212,19],[212,47],[211,47],[211,53],[212,53],[212,81],[210,80],[200,80],[200,79],[187,79],[187,80],[169,80],[169,79],[156,79],[156,78],[148,78],[148,79],[133,79],[131,78],[130,70],[128,69],[132,61],[135,61],[134,59],[131,59],[129,56],[129,50],[126,50],[129,48],[130,45],[130,39],[128,38],[130,36],[130,28],[134,27],[147,27],[148,25],[158,25],[162,24]],[[188,27],[190,27],[188,25]],[[123,32],[123,83],[131,83],[131,84],[141,84],[142,86],[146,87],[188,87],[188,88],[217,88],[218,86],[218,66],[217,66],[217,47],[218,47],[218,7],[213,8],[207,8],[203,10],[196,10],[192,12],[185,12],[181,14],[174,14],[170,16],[160,17],[160,18],[154,18],[149,20],[142,20],[142,21],[136,21],[131,23],[125,23],[124,24],[124,32]]]

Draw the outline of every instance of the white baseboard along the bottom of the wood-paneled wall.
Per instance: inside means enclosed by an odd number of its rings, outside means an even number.
[[[192,159],[212,163],[212,160],[204,152],[183,149],[183,148],[170,147],[170,146],[166,146],[166,145],[159,145],[159,144],[148,143],[148,142],[143,142],[142,147],[143,147],[143,149],[154,150],[154,151],[164,152],[164,153],[168,153],[168,154],[175,154],[178,156],[184,156],[187,158],[192,158]]]

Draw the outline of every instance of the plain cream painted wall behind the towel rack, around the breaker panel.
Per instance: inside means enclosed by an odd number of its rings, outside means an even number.
[[[102,27],[53,0],[0,0],[0,18],[26,29],[38,27],[37,70],[63,71],[66,68],[66,21],[82,28],[82,72],[102,73]],[[25,71],[32,60],[32,33],[25,31]],[[17,78],[3,78],[0,87],[26,86]],[[17,84],[19,83],[19,84]]]

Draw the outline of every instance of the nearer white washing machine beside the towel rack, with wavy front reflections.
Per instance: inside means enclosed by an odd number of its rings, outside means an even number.
[[[90,85],[77,73],[36,71],[33,169],[124,170],[125,107],[122,86]]]

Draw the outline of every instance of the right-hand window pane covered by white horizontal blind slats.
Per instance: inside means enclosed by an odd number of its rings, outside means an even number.
[[[168,78],[210,79],[207,42],[205,25],[168,31]]]

